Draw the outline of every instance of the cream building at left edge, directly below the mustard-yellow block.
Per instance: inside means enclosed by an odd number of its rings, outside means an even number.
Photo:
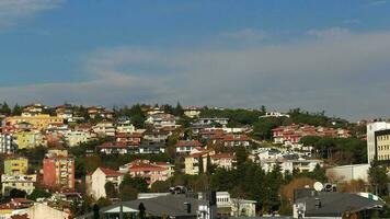
[[[13,188],[24,191],[28,195],[35,189],[36,175],[1,175],[1,193],[3,196],[9,196]]]

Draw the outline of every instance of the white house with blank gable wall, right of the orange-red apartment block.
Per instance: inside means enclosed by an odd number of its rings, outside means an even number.
[[[111,182],[113,183],[116,189],[119,188],[119,185],[123,181],[124,174],[107,168],[97,168],[89,180],[90,192],[96,200],[101,197],[107,197],[105,192],[105,184]]]

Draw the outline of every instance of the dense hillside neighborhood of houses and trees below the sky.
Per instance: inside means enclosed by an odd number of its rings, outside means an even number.
[[[386,122],[180,103],[3,103],[0,113],[0,218],[390,212]]]

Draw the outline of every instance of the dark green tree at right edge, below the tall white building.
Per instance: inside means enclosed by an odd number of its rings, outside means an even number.
[[[380,166],[377,162],[374,162],[368,170],[368,177],[376,195],[383,196],[388,194],[387,184],[389,183],[389,178],[385,166]]]

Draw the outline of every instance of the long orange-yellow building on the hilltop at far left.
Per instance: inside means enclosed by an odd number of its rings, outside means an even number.
[[[12,116],[5,118],[7,124],[16,125],[19,123],[30,123],[34,129],[46,129],[50,124],[62,124],[64,118],[50,116],[48,114],[39,114],[36,116]]]

